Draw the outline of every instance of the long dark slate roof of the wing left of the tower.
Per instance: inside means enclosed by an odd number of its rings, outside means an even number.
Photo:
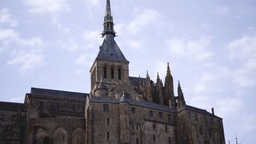
[[[83,99],[83,100],[85,100],[86,97],[89,96],[88,93],[67,92],[67,91],[58,91],[53,89],[33,88],[33,87],[31,88],[31,94],[71,98],[71,99]]]

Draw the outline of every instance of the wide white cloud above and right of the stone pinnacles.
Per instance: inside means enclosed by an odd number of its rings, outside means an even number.
[[[200,38],[196,40],[169,39],[165,40],[166,45],[174,56],[193,57],[196,61],[203,61],[213,56],[213,53],[207,50],[211,40],[209,38]]]

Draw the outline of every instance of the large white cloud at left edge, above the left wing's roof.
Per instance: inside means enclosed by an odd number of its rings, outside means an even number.
[[[43,48],[43,40],[38,37],[31,39],[24,39],[19,36],[13,29],[0,29],[0,44],[3,51],[10,49],[13,46],[11,60],[7,62],[8,65],[21,65],[19,71],[25,73],[43,63],[43,55],[41,54]]]

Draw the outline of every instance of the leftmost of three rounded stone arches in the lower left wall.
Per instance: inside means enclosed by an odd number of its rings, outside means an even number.
[[[38,144],[49,144],[49,133],[48,131],[39,126],[34,127],[33,142]]]

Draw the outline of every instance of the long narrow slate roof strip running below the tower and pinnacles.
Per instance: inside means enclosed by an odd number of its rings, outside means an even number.
[[[123,97],[123,96],[120,99],[108,98],[108,97],[93,97],[90,99],[90,102],[92,102],[92,103],[114,103],[114,104],[119,104],[121,102],[127,102],[130,105],[142,106],[142,107],[147,107],[150,109],[161,110],[161,111],[177,112],[176,110],[170,109],[170,107],[168,107],[166,105],[159,105],[159,104],[149,103],[147,101],[138,101],[138,100],[127,99],[126,97]]]

